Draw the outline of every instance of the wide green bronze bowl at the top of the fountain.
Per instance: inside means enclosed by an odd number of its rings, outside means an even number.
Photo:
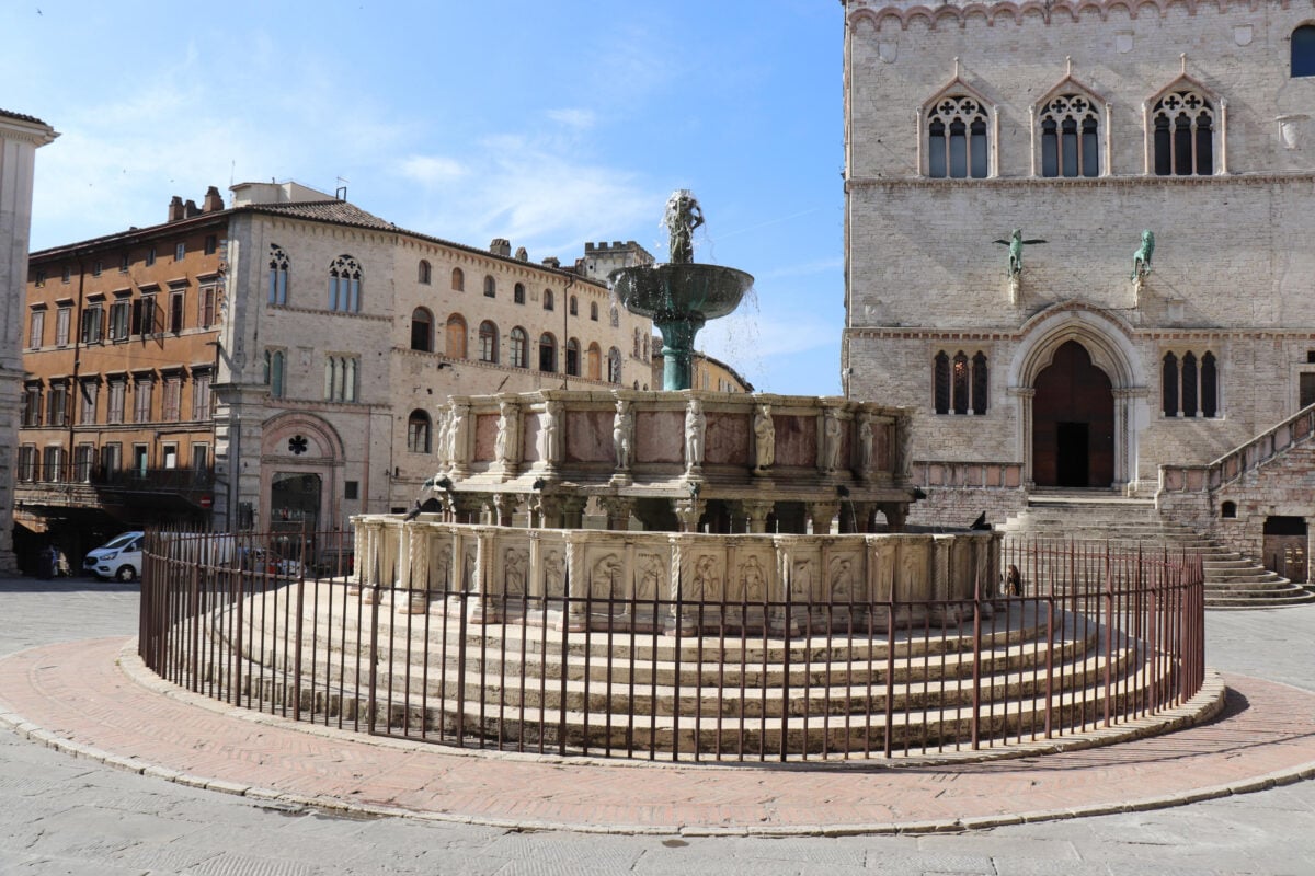
[[[608,280],[626,310],[655,322],[725,317],[753,285],[743,271],[697,263],[621,268]]]

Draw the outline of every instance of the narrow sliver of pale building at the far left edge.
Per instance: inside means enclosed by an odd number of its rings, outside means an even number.
[[[59,137],[32,116],[0,109],[0,574],[13,573],[14,448],[22,397],[22,309],[37,148]]]

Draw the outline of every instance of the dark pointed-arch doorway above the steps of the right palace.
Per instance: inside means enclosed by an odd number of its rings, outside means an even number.
[[[1114,482],[1114,390],[1076,340],[1036,376],[1032,481],[1038,486],[1109,487]]]

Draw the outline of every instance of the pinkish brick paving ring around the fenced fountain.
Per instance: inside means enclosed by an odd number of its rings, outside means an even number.
[[[923,831],[1176,805],[1315,775],[1315,693],[1226,674],[1222,714],[1116,746],[982,763],[702,767],[454,751],[170,691],[122,637],[0,659],[0,720],[125,770],[231,793],[521,827]]]

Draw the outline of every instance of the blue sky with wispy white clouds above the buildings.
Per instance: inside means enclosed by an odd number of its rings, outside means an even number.
[[[634,239],[671,190],[696,259],[757,301],[700,345],[764,391],[836,394],[843,326],[835,0],[0,0],[0,106],[38,152],[33,248],[164,219],[172,194],[297,180],[400,226],[534,260]],[[39,12],[38,12],[39,9]]]

